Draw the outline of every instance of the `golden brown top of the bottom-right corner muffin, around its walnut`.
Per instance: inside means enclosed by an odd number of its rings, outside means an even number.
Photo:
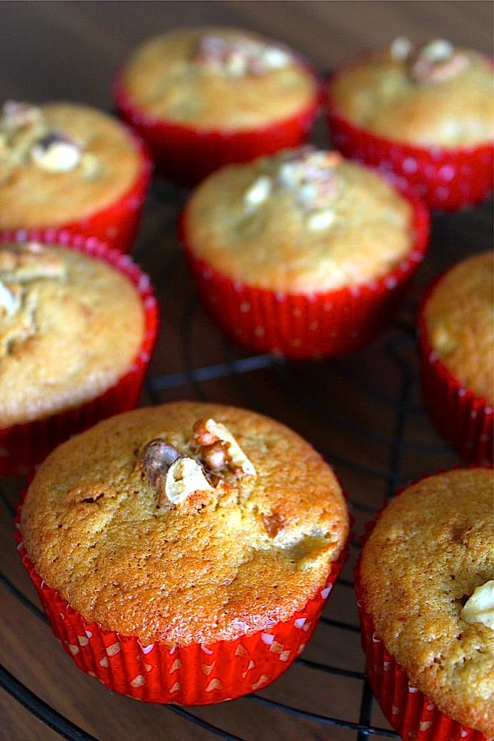
[[[455,470],[407,488],[361,554],[364,608],[419,690],[488,737],[494,727],[494,632],[461,618],[493,579],[493,471]]]

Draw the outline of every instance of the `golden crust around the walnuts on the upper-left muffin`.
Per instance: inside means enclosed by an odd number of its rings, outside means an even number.
[[[136,142],[107,113],[66,102],[38,110],[46,134],[68,137],[91,159],[52,173],[28,153],[0,151],[1,229],[56,227],[92,216],[124,196],[141,169]]]

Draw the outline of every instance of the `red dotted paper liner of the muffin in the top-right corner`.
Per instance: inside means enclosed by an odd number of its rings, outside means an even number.
[[[327,120],[333,146],[344,156],[404,179],[431,208],[454,211],[493,191],[492,142],[471,147],[417,147],[393,142],[350,123],[331,99]]]

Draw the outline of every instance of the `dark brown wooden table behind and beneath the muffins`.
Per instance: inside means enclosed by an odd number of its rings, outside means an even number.
[[[0,98],[70,99],[111,110],[110,78],[140,41],[184,24],[230,24],[287,42],[330,70],[398,35],[492,50],[489,2],[2,2]],[[313,141],[327,145],[324,123]],[[187,193],[156,179],[133,257],[150,273],[162,330],[142,403],[195,398],[267,413],[327,457],[350,495],[356,534],[384,497],[458,462],[435,434],[418,385],[414,311],[424,286],[492,246],[489,203],[433,214],[429,253],[393,325],[349,356],[280,362],[224,339],[198,306],[175,234]],[[24,482],[1,484],[0,740],[329,741],[393,737],[370,699],[359,645],[357,545],[313,641],[281,679],[210,708],[144,705],[81,674],[53,638],[13,542]]]

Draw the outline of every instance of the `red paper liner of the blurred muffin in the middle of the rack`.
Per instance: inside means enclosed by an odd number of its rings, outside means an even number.
[[[276,293],[219,273],[189,247],[182,213],[178,233],[201,302],[227,336],[258,352],[308,359],[361,348],[393,318],[427,250],[427,208],[398,190],[413,206],[410,253],[381,278],[321,293]]]

